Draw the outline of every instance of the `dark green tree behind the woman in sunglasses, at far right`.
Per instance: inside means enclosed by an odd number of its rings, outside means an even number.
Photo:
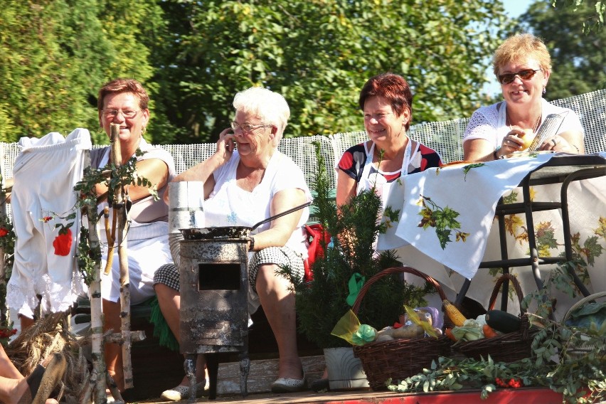
[[[536,1],[521,17],[523,28],[543,38],[551,53],[548,100],[606,88],[606,31],[583,35],[583,21],[595,14],[590,3],[554,9],[548,1]]]

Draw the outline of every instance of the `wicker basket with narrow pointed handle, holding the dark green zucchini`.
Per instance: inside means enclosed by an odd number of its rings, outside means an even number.
[[[511,274],[504,274],[496,280],[494,289],[490,296],[489,310],[494,309],[496,302],[496,296],[499,294],[499,289],[503,282],[509,280],[511,285],[514,286],[516,294],[518,296],[520,309],[522,308],[522,289],[520,283]],[[519,331],[509,332],[500,336],[494,336],[493,338],[483,338],[477,341],[459,342],[453,346],[454,349],[464,353],[469,358],[479,359],[480,356],[484,359],[488,358],[488,355],[493,361],[498,362],[514,362],[519,361],[523,358],[531,356],[531,344],[533,341],[534,334],[538,332],[538,329],[530,330],[530,321],[528,321],[528,314],[522,314],[520,316],[521,326]]]

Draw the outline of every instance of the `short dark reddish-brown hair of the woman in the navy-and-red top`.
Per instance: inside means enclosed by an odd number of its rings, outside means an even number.
[[[406,130],[410,128],[410,121],[413,119],[413,93],[410,92],[408,82],[395,73],[382,73],[368,79],[358,101],[360,109],[364,110],[364,104],[368,97],[383,97],[391,105],[393,112],[400,116],[405,109],[410,112],[410,118],[405,124]]]

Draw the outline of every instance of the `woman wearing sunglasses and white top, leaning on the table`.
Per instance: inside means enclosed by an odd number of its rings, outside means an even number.
[[[563,114],[564,119],[555,137],[538,149],[583,153],[583,126],[578,116],[543,99],[551,57],[540,38],[529,33],[507,38],[494,53],[493,68],[504,101],[481,107],[472,115],[463,139],[465,160],[490,161],[527,149],[528,137],[533,138],[550,114]]]

